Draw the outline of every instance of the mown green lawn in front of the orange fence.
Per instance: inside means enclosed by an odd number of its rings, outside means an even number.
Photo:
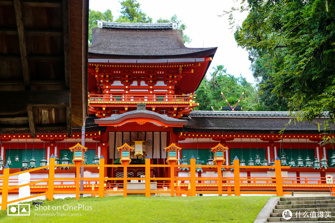
[[[83,222],[83,223],[252,223],[269,197],[261,196],[213,196],[213,197],[142,197],[121,196],[92,198],[84,197],[44,200],[44,209],[35,210],[30,205],[30,216],[7,216],[7,210],[0,211],[1,223],[35,222]],[[63,210],[67,207],[84,206],[84,210]],[[59,207],[61,210],[53,211]],[[88,210],[85,210],[88,209]],[[91,210],[90,210],[91,209]],[[57,216],[59,213],[59,216]],[[37,216],[55,214],[56,216]],[[66,214],[66,216],[61,216]],[[68,216],[77,214],[81,216]]]

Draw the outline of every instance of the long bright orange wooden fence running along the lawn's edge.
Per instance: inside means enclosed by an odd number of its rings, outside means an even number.
[[[69,166],[72,168],[76,168],[76,176],[74,178],[64,178],[64,177],[55,177],[55,168],[56,167],[65,167]],[[95,167],[99,168],[98,177],[80,177],[80,167]],[[110,178],[105,177],[105,170],[107,168],[123,168],[124,177],[123,178]],[[275,194],[277,196],[283,196],[284,194],[290,194],[290,192],[284,192],[283,187],[289,187],[295,185],[297,181],[304,181],[304,184],[299,185],[308,185],[310,190],[315,190],[319,186],[328,187],[325,184],[325,178],[314,178],[314,177],[285,177],[282,178],[281,171],[282,169],[289,169],[289,166],[281,166],[280,160],[275,160],[275,166],[240,166],[239,160],[235,159],[233,161],[233,165],[196,165],[196,161],[194,158],[190,159],[190,165],[177,165],[174,162],[171,164],[150,164],[150,159],[145,159],[145,164],[131,165],[131,167],[145,168],[145,178],[128,178],[127,177],[127,168],[129,165],[121,165],[121,164],[105,164],[105,159],[100,158],[100,163],[98,165],[55,165],[55,158],[50,158],[50,164],[47,166],[43,166],[40,168],[30,169],[23,172],[17,172],[10,174],[10,169],[6,166],[3,170],[3,176],[0,177],[2,180],[2,203],[1,210],[7,208],[7,204],[19,202],[22,200],[39,197],[42,195],[46,196],[46,199],[53,200],[54,194],[62,193],[62,194],[75,194],[75,199],[79,199],[80,194],[91,194],[91,196],[104,197],[105,194],[108,193],[121,193],[124,197],[127,197],[128,194],[145,194],[146,197],[150,197],[150,193],[169,193],[171,196],[182,196],[182,194],[187,196],[196,196],[196,194],[234,194],[235,196],[240,196],[241,194]],[[151,178],[150,177],[150,169],[156,168],[169,168],[170,176],[160,177],[160,178]],[[178,177],[175,176],[176,170],[180,167],[188,167],[190,169],[190,177]],[[217,177],[196,177],[196,168],[211,168],[218,172]],[[35,179],[28,184],[18,185],[18,186],[9,186],[9,178],[11,176],[15,176],[25,172],[34,172],[38,170],[42,170],[44,168],[49,168],[49,177],[46,179]],[[221,168],[234,168],[234,176],[233,177],[222,177]],[[246,169],[275,169],[275,177],[240,177],[240,168]],[[127,190],[127,182],[129,180],[145,180],[145,190]],[[80,191],[80,181],[84,182],[96,182],[94,186],[92,185],[92,190],[84,190]],[[114,180],[123,180],[121,184],[113,184],[108,183],[106,181],[114,181]],[[57,190],[57,186],[59,184],[55,184],[56,182],[73,182],[72,185],[75,185],[73,190],[69,188],[64,188],[63,190]],[[163,183],[157,183],[157,190],[150,189],[150,182],[159,181]],[[188,182],[186,182],[188,181]],[[214,181],[215,183],[205,183],[205,181]],[[313,184],[308,184],[306,182],[313,181]],[[7,201],[8,193],[11,190],[24,187],[37,185],[39,183],[46,182],[46,191],[40,194],[32,195],[30,197],[16,199],[13,201]],[[266,183],[264,183],[266,182]],[[314,184],[315,182],[315,184]],[[324,183],[323,183],[324,182]],[[12,183],[12,182],[11,182]],[[45,186],[45,185],[43,185]],[[335,192],[335,184],[330,185],[332,187],[333,192]],[[114,188],[117,190],[113,190]],[[207,187],[204,190],[204,187]],[[253,190],[242,190],[241,188],[252,187]],[[56,190],[55,190],[56,188]],[[269,190],[271,191],[265,191]]]

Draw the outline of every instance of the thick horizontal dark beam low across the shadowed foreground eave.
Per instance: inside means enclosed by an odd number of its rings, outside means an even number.
[[[34,107],[67,107],[70,105],[69,90],[51,90],[51,91],[0,91],[0,95],[7,95],[2,99],[0,113],[5,108],[16,104],[29,105]]]

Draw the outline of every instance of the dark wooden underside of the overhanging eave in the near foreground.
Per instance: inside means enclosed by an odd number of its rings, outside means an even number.
[[[0,0],[0,131],[71,135],[87,117],[87,0]]]

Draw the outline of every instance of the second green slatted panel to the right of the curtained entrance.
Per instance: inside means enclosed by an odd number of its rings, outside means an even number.
[[[237,156],[239,159],[243,156],[243,159],[248,162],[250,158],[255,161],[256,154],[261,157],[261,160],[264,159],[266,152],[263,148],[229,148],[229,163],[231,160]]]

